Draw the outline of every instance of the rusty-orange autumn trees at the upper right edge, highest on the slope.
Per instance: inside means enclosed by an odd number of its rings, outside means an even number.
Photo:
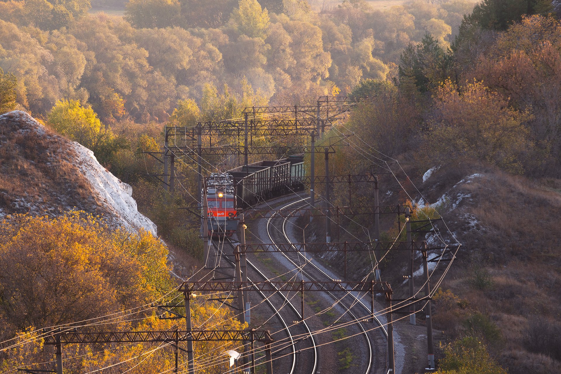
[[[558,168],[561,156],[561,22],[552,16],[527,16],[499,34],[468,76],[535,114],[529,126],[540,159]]]

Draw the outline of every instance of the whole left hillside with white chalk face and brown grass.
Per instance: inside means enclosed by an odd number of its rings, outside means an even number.
[[[91,150],[25,112],[0,116],[0,217],[57,216],[68,210],[157,234],[156,225],[137,210],[131,186],[102,167]]]

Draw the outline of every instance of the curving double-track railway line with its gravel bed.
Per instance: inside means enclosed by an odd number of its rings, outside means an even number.
[[[280,199],[282,200],[282,198]],[[266,237],[268,237],[270,244],[277,249],[278,256],[282,256],[284,259],[284,267],[287,267],[287,273],[285,274],[290,274],[289,277],[299,277],[297,280],[306,281],[335,280],[333,279],[333,274],[329,274],[328,270],[323,269],[321,265],[317,264],[310,256],[307,256],[306,253],[285,253],[280,251],[276,245],[277,243],[292,243],[287,225],[292,224],[291,220],[297,218],[297,211],[308,204],[307,200],[309,200],[309,197],[298,196],[298,200],[289,202],[289,204],[286,204],[286,201],[283,202],[278,210],[288,210],[290,212],[288,217],[282,218],[276,216],[277,213],[273,213],[264,220],[262,224],[264,226],[263,231],[266,232]],[[274,201],[269,201],[267,204],[270,206],[270,204],[275,203]],[[224,244],[228,244],[233,249],[238,243],[231,238],[224,238],[222,245],[217,243],[217,238],[214,238],[213,242],[215,243],[213,247],[217,250],[217,256],[221,258],[220,261],[226,261],[228,266],[233,266],[233,255],[229,254],[231,253],[229,251],[224,251],[223,247]],[[276,254],[277,252],[274,253]],[[248,278],[250,282],[251,279],[255,281],[257,279],[259,281],[270,281],[278,278],[278,276],[269,277],[265,275],[264,271],[261,271],[256,263],[249,259],[247,264],[249,274],[251,275],[251,278]],[[331,325],[325,325],[324,322],[325,327],[323,328],[317,328],[317,322],[315,328],[310,326],[310,322],[316,318],[315,316],[302,318],[300,309],[294,304],[294,298],[298,297],[297,294],[283,294],[277,290],[274,295],[266,295],[258,291],[270,311],[273,311],[273,316],[278,321],[277,326],[280,327],[274,333],[276,336],[273,335],[277,341],[275,343],[276,347],[273,349],[273,352],[276,351],[277,353],[276,357],[275,353],[273,354],[275,372],[288,374],[339,372],[335,368],[330,369],[328,366],[321,365],[324,359],[320,359],[320,354],[324,354],[323,350],[325,349],[320,347],[327,344],[321,343],[321,341],[318,342],[318,339],[316,339],[316,336],[320,336],[322,333],[325,334],[325,330],[330,331],[336,328],[337,323],[346,326],[350,330],[347,336],[340,339],[344,339],[345,344],[352,347],[353,354],[359,354],[359,357],[353,359],[352,372],[364,372],[365,374],[386,372],[386,352],[385,348],[380,348],[385,347],[387,341],[387,331],[384,328],[384,324],[375,316],[375,324],[378,328],[374,329],[372,325],[365,326],[364,320],[367,318],[365,316],[370,316],[371,313],[370,304],[365,304],[362,301],[367,295],[351,292],[343,287],[341,289],[346,292],[331,293],[326,291],[325,293],[319,293],[323,295],[324,303],[329,300],[333,310],[337,310],[337,315],[340,315],[337,321],[332,322]],[[298,305],[299,303],[296,302],[296,304]],[[254,307],[252,307],[252,311],[255,311]],[[255,313],[257,314],[257,312]],[[256,364],[259,363],[260,359],[258,358],[256,359]]]

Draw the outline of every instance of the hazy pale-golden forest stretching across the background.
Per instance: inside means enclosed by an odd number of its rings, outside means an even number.
[[[130,1],[125,17],[102,1],[0,2],[0,66],[17,102],[46,114],[59,99],[89,103],[104,122],[167,121],[177,100],[204,103],[243,77],[261,102],[299,104],[348,94],[360,79],[397,73],[399,54],[429,33],[446,49],[470,0],[373,10],[344,2],[318,15],[306,1]],[[203,110],[203,113],[206,113]]]

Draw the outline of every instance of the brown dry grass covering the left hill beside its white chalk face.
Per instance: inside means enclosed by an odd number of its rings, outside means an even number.
[[[73,164],[68,140],[36,128],[25,113],[0,116],[0,213],[55,216],[74,207],[105,213]]]

